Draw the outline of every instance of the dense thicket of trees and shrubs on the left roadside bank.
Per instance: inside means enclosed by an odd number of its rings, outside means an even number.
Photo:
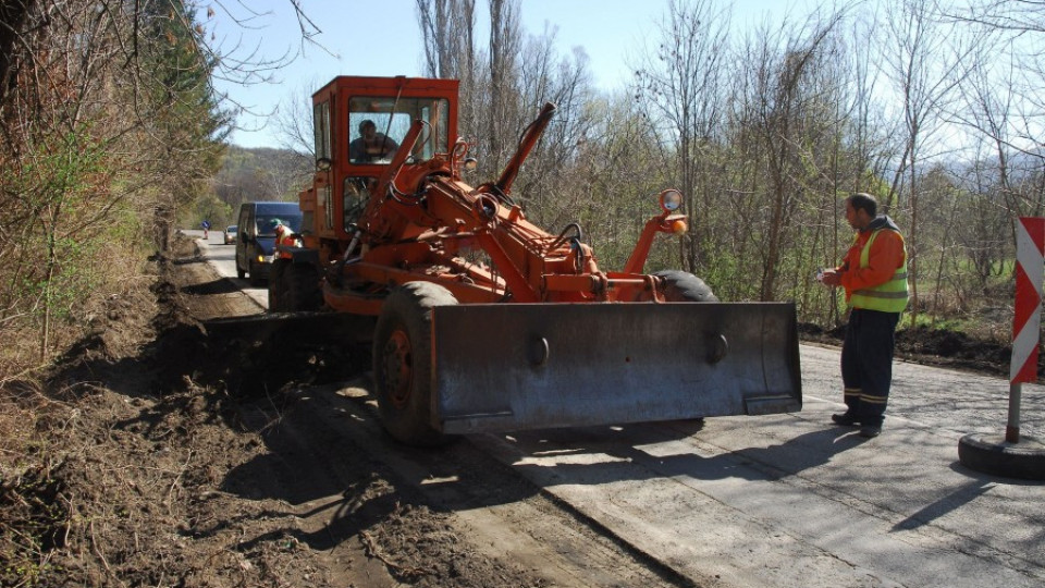
[[[138,267],[121,247],[136,231],[155,229],[142,242],[167,246],[179,206],[217,168],[230,113],[195,7],[36,0],[2,11],[0,225],[17,229],[0,231],[0,256],[17,261],[0,282],[0,329],[35,330],[42,362],[124,287],[114,272]]]

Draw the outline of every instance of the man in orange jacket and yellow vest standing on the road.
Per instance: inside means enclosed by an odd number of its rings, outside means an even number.
[[[841,346],[846,412],[832,415],[841,426],[860,426],[860,436],[882,432],[893,382],[896,326],[907,308],[907,249],[899,228],[870,194],[846,198],[846,220],[857,231],[840,266],[821,282],[846,289],[850,307]]]

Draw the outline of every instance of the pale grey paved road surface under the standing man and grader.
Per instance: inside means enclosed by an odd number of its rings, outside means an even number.
[[[204,250],[263,299],[220,232]],[[796,414],[469,440],[698,584],[1045,586],[1045,482],[958,462],[961,436],[1004,432],[1006,380],[898,362],[884,432],[866,440],[829,421],[838,350],[802,345],[801,363]],[[1021,424],[1045,437],[1043,387],[1023,387]]]

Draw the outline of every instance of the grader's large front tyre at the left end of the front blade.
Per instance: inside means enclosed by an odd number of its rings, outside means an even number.
[[[455,305],[445,287],[410,282],[385,298],[373,336],[373,379],[384,429],[408,445],[453,438],[432,426],[432,307]]]

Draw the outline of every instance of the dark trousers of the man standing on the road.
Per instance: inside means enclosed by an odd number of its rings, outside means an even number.
[[[899,313],[853,308],[841,345],[846,413],[863,426],[881,427],[893,382],[893,348]]]

